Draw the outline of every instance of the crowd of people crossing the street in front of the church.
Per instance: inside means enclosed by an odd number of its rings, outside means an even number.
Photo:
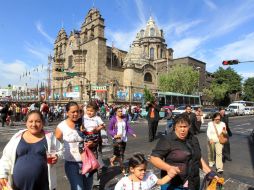
[[[26,117],[23,117],[25,107]],[[20,113],[18,118],[24,119],[26,129],[17,132],[3,150],[0,160],[0,187],[11,187],[14,190],[54,190],[57,187],[55,164],[62,158],[70,189],[91,190],[94,175],[100,176],[105,167],[101,151],[103,130],[107,131],[113,142],[110,166],[119,164],[124,174],[116,184],[116,190],[148,190],[156,185],[167,190],[198,190],[199,169],[210,177],[218,178],[223,172],[223,162],[231,161],[229,140],[225,144],[221,144],[219,140],[221,133],[232,135],[223,108],[208,123],[208,164],[201,155],[197,138],[203,123],[202,110],[198,108],[193,112],[191,106],[187,105],[185,113],[176,117],[171,109],[166,110],[166,135],[151,149],[148,159],[142,153],[135,153],[129,159],[129,173],[124,167],[124,155],[128,136],[137,137],[131,121],[137,119],[140,107],[108,106],[100,102],[79,105],[73,101],[65,106],[50,106],[47,103],[29,106],[14,104],[2,106],[2,120],[6,119],[10,108],[16,110],[13,115]],[[54,113],[55,110],[63,115],[62,121],[54,133],[47,132],[43,127],[49,121],[49,113]],[[152,142],[156,139],[160,106],[156,101],[147,102],[146,110],[148,141]],[[103,122],[105,119],[110,120],[108,126]],[[2,126],[4,123],[2,122]],[[88,162],[85,155],[87,149],[98,161],[98,167],[92,170],[85,168]],[[148,162],[161,170],[161,179],[152,172],[146,172]],[[214,165],[217,173],[212,170]]]

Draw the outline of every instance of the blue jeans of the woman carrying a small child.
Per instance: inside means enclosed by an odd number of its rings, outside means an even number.
[[[71,190],[92,190],[93,174],[82,175],[79,173],[81,162],[65,161],[64,168],[70,182]]]

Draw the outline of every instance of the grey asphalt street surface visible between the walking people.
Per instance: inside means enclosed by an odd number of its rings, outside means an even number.
[[[207,138],[206,128],[209,120],[205,120],[202,124],[201,133],[197,136],[200,142],[202,156],[207,161]],[[106,124],[108,122],[106,121]],[[54,131],[56,123],[45,127],[46,130]],[[154,142],[148,142],[148,129],[147,121],[139,119],[131,124],[137,134],[137,137],[129,137],[127,142],[125,160],[131,157],[135,152],[142,152],[149,157],[152,149],[155,147],[158,139],[163,135],[166,120],[159,122],[157,139]],[[0,154],[8,140],[18,130],[24,128],[23,123],[16,123],[14,127],[0,127]],[[250,144],[249,135],[254,129],[254,116],[243,117],[230,117],[230,128],[233,132],[233,136],[230,138],[231,144],[231,157],[232,162],[226,162],[224,164],[223,177],[225,178],[225,189],[235,190],[253,190],[254,189],[254,144]],[[106,166],[109,165],[109,158],[112,156],[112,145],[109,139],[109,144],[103,148],[103,160]],[[125,163],[125,164],[126,164]],[[159,175],[159,171],[149,165],[149,169]],[[215,168],[213,168],[215,169]],[[68,190],[70,189],[67,178],[64,173],[64,162],[59,161],[57,164],[58,171],[58,189]],[[103,183],[105,183],[104,189],[113,189],[114,183],[116,183],[123,175],[120,172],[119,167],[108,167],[104,171]],[[201,173],[202,176],[202,173]],[[94,180],[95,184],[99,182]]]

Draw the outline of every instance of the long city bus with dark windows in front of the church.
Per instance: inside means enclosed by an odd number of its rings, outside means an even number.
[[[187,95],[176,92],[157,92],[156,96],[162,107],[170,107],[174,109],[184,105],[201,106],[199,95]]]

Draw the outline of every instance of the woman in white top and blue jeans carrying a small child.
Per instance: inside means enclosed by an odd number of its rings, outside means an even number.
[[[70,182],[71,190],[91,190],[93,186],[93,172],[86,175],[80,173],[81,155],[79,142],[83,139],[75,129],[75,122],[80,117],[79,106],[76,102],[66,105],[67,119],[58,124],[55,135],[64,143],[65,173]],[[92,142],[86,143],[90,146]]]

